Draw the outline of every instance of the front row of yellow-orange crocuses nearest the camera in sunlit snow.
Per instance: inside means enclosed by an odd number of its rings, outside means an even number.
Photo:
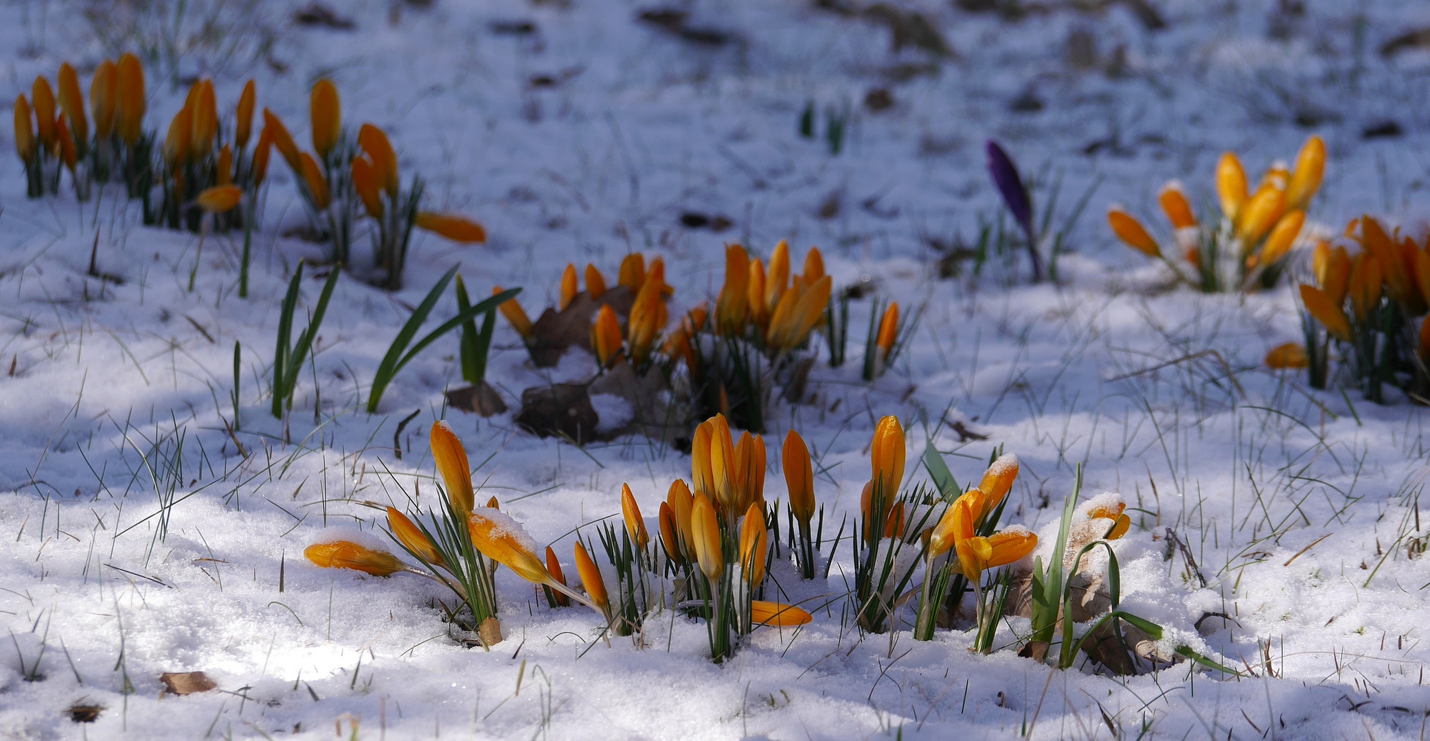
[[[566,584],[552,547],[546,547],[545,558],[539,557],[538,547],[525,528],[500,513],[495,501],[488,507],[475,507],[466,453],[445,423],[433,424],[430,441],[446,490],[445,511],[460,523],[460,533],[469,538],[475,553],[480,554],[479,560],[489,561],[455,563],[462,558],[460,548],[453,550],[452,543],[439,537],[442,530],[433,524],[435,515],[422,515],[423,524],[419,525],[412,517],[390,507],[389,533],[422,564],[420,568],[403,563],[386,550],[352,540],[316,543],[307,548],[307,558],[320,567],[352,568],[375,575],[409,571],[436,578],[452,587],[469,605],[469,593],[485,588],[479,584],[483,580],[493,584],[490,570],[500,564],[523,580],[549,590],[552,605],[583,604],[601,614],[605,627],[612,630],[629,621],[625,617],[631,614],[629,605],[621,601],[629,600],[632,590],[625,584],[612,588],[609,577],[602,574],[596,558],[579,537],[572,547],[572,560],[581,580],[581,588],[575,588]],[[814,477],[809,450],[798,433],[791,431],[785,437],[782,460],[789,493],[788,511],[798,523],[799,537],[808,540],[809,520],[815,511]],[[871,443],[871,481],[862,503],[865,518],[872,508],[885,508],[898,513],[887,520],[908,523],[917,504],[894,494],[902,484],[904,464],[902,428],[897,418],[885,417]],[[746,431],[736,438],[722,415],[704,421],[694,435],[691,484],[685,480],[672,481],[659,504],[658,547],[652,543],[631,487],[622,485],[622,537],[626,538],[626,553],[633,550],[638,554],[636,565],[626,568],[639,571],[636,578],[641,584],[658,584],[655,591],[671,595],[676,608],[685,611],[692,604],[698,607],[694,614],[706,618],[712,657],[716,660],[728,657],[738,647],[739,637],[759,625],[798,625],[812,620],[799,607],[759,598],[771,575],[768,523],[776,521],[782,514],[765,498],[765,470],[766,451],[761,435]],[[1022,560],[1037,545],[1037,537],[1024,528],[1010,527],[992,533],[984,527],[1007,497],[1017,474],[1017,458],[1004,455],[990,467],[977,488],[962,493],[947,507],[937,525],[921,531],[901,527],[887,537],[925,548],[930,577],[934,564],[951,564],[977,590],[984,571]],[[891,494],[884,495],[885,491]],[[1108,517],[1117,518],[1120,514]],[[1117,524],[1125,531],[1124,521]],[[794,553],[794,557],[799,561],[808,553]],[[472,578],[473,567],[479,571],[476,580]],[[612,567],[621,568],[618,564]],[[641,604],[639,610],[644,614],[655,604]],[[659,604],[666,603],[662,600]],[[476,615],[478,621],[495,620],[495,594],[485,595],[473,610],[486,610]],[[456,610],[449,610],[449,614],[456,614]],[[499,640],[499,630],[483,632],[483,640],[490,642],[493,635]]]

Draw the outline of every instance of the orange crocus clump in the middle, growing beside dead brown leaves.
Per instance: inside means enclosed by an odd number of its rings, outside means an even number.
[[[818,328],[834,326],[831,284],[818,248],[805,254],[804,271],[792,274],[785,241],[775,246],[768,267],[731,244],[714,307],[701,303],[675,323],[666,306],[674,290],[665,281],[664,261],[646,264],[639,253],[622,260],[613,286],[595,266],[579,271],[568,264],[558,304],[535,321],[518,301],[503,303],[500,311],[538,367],[555,366],[568,347],[582,346],[595,356],[599,373],[622,368],[648,378],[658,370],[662,388],[674,390],[682,404],[688,401],[695,420],[722,414],[738,427],[762,430],[774,398],[804,398],[814,361],[811,338]],[[917,313],[911,321],[897,303],[875,311],[867,378],[888,368],[915,323]]]

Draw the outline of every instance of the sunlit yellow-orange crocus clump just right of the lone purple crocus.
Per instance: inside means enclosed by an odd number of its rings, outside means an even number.
[[[1236,153],[1217,161],[1220,213],[1198,218],[1177,181],[1163,186],[1157,203],[1171,227],[1158,240],[1120,206],[1107,213],[1113,233],[1128,247],[1161,260],[1181,283],[1201,291],[1250,291],[1274,286],[1306,224],[1306,211],[1326,171],[1326,143],[1311,136],[1294,168],[1273,163],[1253,190]]]

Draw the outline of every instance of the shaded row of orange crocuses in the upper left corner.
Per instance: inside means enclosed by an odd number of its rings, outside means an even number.
[[[239,196],[252,200],[263,184],[272,147],[292,167],[300,194],[317,226],[337,246],[335,257],[343,264],[359,203],[376,223],[379,264],[389,276],[402,271],[413,226],[455,241],[486,238],[475,221],[420,210],[420,187],[402,193],[398,157],[380,128],[363,124],[356,147],[347,140],[337,89],[330,80],[319,80],[310,94],[316,157],[300,151],[283,121],[267,109],[262,133],[249,148],[257,96],[253,80],[245,83],[232,119],[220,116],[213,81],[196,80],[162,143],[144,128],[144,71],[134,54],[96,67],[89,101],[93,131],[74,67],[61,64],[57,80],[59,94],[40,76],[30,96],[21,93],[14,104],[16,151],[26,167],[30,197],[57,193],[63,166],[82,200],[92,183],[120,180],[130,198],[143,201],[146,223],[197,230],[193,206],[213,213],[230,201],[230,208],[237,207]],[[157,207],[150,203],[154,187],[162,198]],[[225,190],[199,201],[197,196],[209,188]],[[225,224],[219,221],[220,227]]]

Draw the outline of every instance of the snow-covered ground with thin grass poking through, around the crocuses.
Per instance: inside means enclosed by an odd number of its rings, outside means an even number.
[[[841,3],[795,0],[682,4],[692,27],[725,34],[718,44],[638,21],[655,6],[629,0],[329,6],[350,29],[293,24],[307,3],[292,0],[0,7],[7,100],[64,60],[87,90],[99,60],[144,44],[172,50],[147,67],[150,127],[183,103],[177,80],[212,76],[227,110],[255,77],[259,104],[306,140],[307,90],[329,76],[350,127],[386,128],[429,203],[490,234],[465,248],[418,237],[399,294],[342,280],[285,431],[265,395],[277,304],[292,266],[320,247],[286,236],[303,218],[282,161],[240,300],[232,238],[207,237],[190,293],[197,237],[142,227],[112,190],[29,201],[20,163],[0,157],[0,624],[13,635],[0,737],[330,738],[337,724],[356,738],[1421,738],[1430,564],[1407,548],[1430,528],[1423,408],[1264,370],[1266,351],[1300,334],[1287,287],[1157,290],[1157,270],[1101,216],[1115,201],[1160,224],[1164,180],[1201,207],[1223,150],[1256,177],[1314,131],[1330,163],[1313,220],[1336,231],[1370,211],[1419,227],[1430,56],[1380,49],[1430,26],[1430,9],[1148,3],[1165,29],[1150,30],[1137,3],[1025,3],[1021,19],[897,3],[941,30],[942,61],[892,51],[887,26]],[[865,106],[877,89],[891,107]],[[814,140],[798,136],[809,101]],[[827,110],[848,111],[838,156]],[[1400,134],[1366,136],[1387,123]],[[997,216],[988,137],[1038,176],[1035,198],[1061,178],[1062,218],[1097,187],[1057,287],[998,260],[940,277],[931,244],[968,243]],[[685,213],[731,226],[692,228]],[[363,404],[396,328],[449,267],[476,293],[522,286],[535,314],[566,263],[609,277],[636,250],[664,257],[678,316],[714,297],[725,241],[768,256],[781,238],[797,257],[819,246],[837,287],[927,303],[889,374],[871,385],[857,357],[817,366],[818,404],[769,423],[766,440],[794,427],[817,450],[821,501],[858,508],[884,414],[905,420],[911,461],[932,435],[960,481],[995,445],[1015,453],[1010,520],[1034,530],[1081,465],[1085,493],[1120,491],[1134,508],[1117,545],[1124,607],[1241,675],[1178,664],[1117,678],[974,654],[971,632],[861,635],[839,621],[845,548],[828,583],[797,585],[831,607],[799,631],[756,631],[725,665],[706,658],[702,624],[669,611],[642,645],[599,642],[595,614],[548,610],[508,570],[506,641],[463,648],[438,587],[302,558],[332,528],[373,530],[379,511],[363,501],[402,503],[399,485],[435,494],[425,430],[460,384],[455,336],[398,375],[378,414]],[[87,276],[92,250],[122,283]],[[307,281],[307,301],[317,290]],[[851,334],[871,303],[852,304]],[[453,307],[443,298],[439,314]],[[565,557],[572,528],[619,511],[622,483],[654,515],[669,481],[689,477],[688,457],[644,438],[581,450],[519,431],[523,388],[595,363],[578,350],[535,370],[505,323],[496,347],[489,380],[513,410],[445,415],[473,465],[486,461],[479,495],[539,544]],[[987,440],[961,441],[941,420]],[[778,447],[769,461],[774,498]],[[204,671],[220,691],[160,697],[169,671]],[[64,712],[76,704],[103,710],[77,724]]]

